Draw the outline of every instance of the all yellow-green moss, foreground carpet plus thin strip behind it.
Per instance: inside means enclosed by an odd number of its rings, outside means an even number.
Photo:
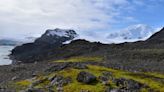
[[[85,61],[102,61],[103,58],[101,57],[73,57],[65,60],[58,60],[57,62],[85,62]],[[151,89],[159,92],[164,92],[164,75],[159,74],[159,73],[143,73],[143,72],[127,72],[123,70],[115,70],[111,68],[106,68],[102,66],[96,66],[96,65],[88,65],[88,69],[74,69],[74,68],[69,68],[69,69],[64,69],[58,72],[52,72],[48,75],[38,75],[34,79],[27,79],[27,80],[21,80],[17,82],[13,82],[10,84],[12,88],[19,90],[26,89],[31,85],[32,82],[37,81],[37,80],[43,80],[42,83],[36,85],[36,88],[42,88],[45,91],[48,91],[45,87],[50,83],[47,79],[52,77],[53,75],[62,75],[64,77],[71,77],[72,82],[69,85],[64,86],[64,92],[79,92],[80,90],[89,90],[90,92],[103,92],[106,87],[100,81],[93,85],[87,85],[87,84],[82,84],[77,82],[76,77],[77,74],[80,71],[87,71],[92,74],[94,74],[96,77],[102,75],[104,71],[111,72],[114,78],[126,78],[126,79],[132,79],[137,82],[140,82],[142,84],[146,84],[149,86]],[[99,80],[99,79],[97,79]],[[117,88],[117,86],[109,80],[109,86],[111,88]],[[54,86],[54,90],[56,90],[56,87]],[[148,89],[142,89],[141,92],[147,92]]]

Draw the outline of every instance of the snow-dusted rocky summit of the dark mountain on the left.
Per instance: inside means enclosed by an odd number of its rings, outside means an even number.
[[[48,29],[35,43],[44,44],[62,44],[63,42],[73,40],[78,34],[70,29]]]

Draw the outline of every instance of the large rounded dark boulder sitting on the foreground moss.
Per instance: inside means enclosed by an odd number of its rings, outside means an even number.
[[[83,71],[78,74],[77,81],[86,84],[91,84],[96,81],[96,77],[91,73]]]

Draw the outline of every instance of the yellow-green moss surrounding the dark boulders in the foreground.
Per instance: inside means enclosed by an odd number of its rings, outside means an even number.
[[[97,82],[93,84],[84,84],[77,81],[77,75],[81,71],[86,71],[92,73],[97,77]],[[64,92],[79,92],[81,90],[88,90],[89,92],[104,92],[106,88],[118,88],[118,86],[112,81],[109,80],[109,85],[104,85],[99,80],[99,76],[102,75],[103,72],[110,72],[112,77],[115,79],[118,78],[125,78],[137,81],[146,85],[146,88],[141,89],[141,92],[148,92],[149,90],[164,92],[164,75],[158,73],[132,73],[122,70],[115,70],[111,68],[106,68],[102,66],[95,66],[95,65],[88,65],[87,69],[74,69],[68,68],[58,72],[52,72],[48,75],[39,75],[34,80],[22,80],[16,82],[17,87],[28,87],[34,81],[40,81],[40,84],[35,85],[35,88],[42,88],[45,91],[48,91],[46,88],[47,85],[50,84],[50,79],[52,76],[63,76],[64,78],[71,78],[71,83],[64,85],[63,90]],[[18,89],[18,88],[17,88]],[[56,86],[53,86],[53,90],[57,90]]]

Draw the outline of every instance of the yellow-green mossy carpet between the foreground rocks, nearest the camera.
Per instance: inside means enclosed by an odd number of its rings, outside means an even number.
[[[73,79],[73,82],[71,84],[64,86],[64,92],[79,92],[80,90],[89,90],[91,92],[103,92],[104,89],[106,88],[106,86],[104,86],[102,83],[98,82],[95,85],[82,84],[82,83],[79,83],[76,81],[76,76],[80,71],[88,71],[90,73],[93,73],[97,77],[100,76],[103,71],[109,71],[109,72],[113,73],[113,76],[115,78],[132,79],[132,80],[135,80],[135,81],[138,81],[140,83],[148,85],[151,89],[154,89],[154,90],[160,91],[160,92],[164,92],[164,84],[161,83],[160,81],[156,81],[153,79],[154,77],[159,78],[159,79],[164,79],[164,75],[162,75],[162,74],[131,73],[131,72],[114,70],[114,69],[110,69],[110,68],[105,68],[105,67],[101,67],[101,66],[93,66],[93,65],[89,65],[88,67],[89,68],[85,69],[85,70],[70,68],[70,69],[66,69],[66,70],[52,73],[48,76],[38,77],[37,79],[50,77],[50,76],[55,75],[55,74],[56,75],[62,75],[64,77],[71,77]],[[148,77],[143,78],[140,75],[149,76],[149,78]],[[33,81],[35,81],[35,80],[33,80]],[[18,81],[18,82],[16,82],[17,89],[26,88],[27,86],[30,85],[31,82],[32,81],[29,81],[29,80]],[[39,84],[38,86],[36,86],[36,88],[44,88],[48,83],[49,83],[49,81],[45,80],[42,84]],[[113,84],[113,83],[111,82],[110,84]],[[115,85],[112,85],[112,87],[115,87]],[[56,87],[54,87],[54,90],[56,90],[55,88]],[[47,89],[45,89],[45,90],[47,90]],[[144,91],[145,90],[147,90],[147,89],[144,89]]]

